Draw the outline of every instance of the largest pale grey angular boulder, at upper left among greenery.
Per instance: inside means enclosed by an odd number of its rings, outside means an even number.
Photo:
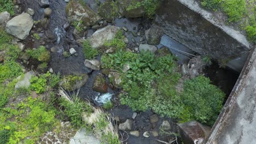
[[[19,39],[25,40],[30,34],[33,24],[33,19],[31,19],[30,14],[22,13],[8,21],[5,29],[7,33],[14,35]]]

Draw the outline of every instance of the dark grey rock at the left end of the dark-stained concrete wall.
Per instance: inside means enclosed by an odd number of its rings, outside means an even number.
[[[164,31],[161,27],[153,25],[145,31],[145,35],[149,45],[158,45],[162,35],[164,35]]]

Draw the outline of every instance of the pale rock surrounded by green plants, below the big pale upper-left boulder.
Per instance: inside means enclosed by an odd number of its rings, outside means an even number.
[[[35,73],[33,71],[28,71],[24,75],[23,79],[21,79],[22,77],[19,76],[17,78],[19,81],[16,83],[15,88],[22,88],[22,87],[28,88],[28,87],[30,87],[30,79],[34,75],[35,75]]]

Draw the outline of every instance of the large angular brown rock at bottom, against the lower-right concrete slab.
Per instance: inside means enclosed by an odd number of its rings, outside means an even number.
[[[184,144],[195,142],[203,143],[211,131],[210,127],[195,121],[178,124],[178,127],[179,134],[181,135]]]

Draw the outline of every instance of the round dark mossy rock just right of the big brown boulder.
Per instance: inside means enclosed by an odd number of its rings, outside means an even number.
[[[103,4],[101,4],[98,9],[99,14],[104,17],[108,22],[112,22],[119,14],[119,9],[117,3],[112,0],[107,0]]]

